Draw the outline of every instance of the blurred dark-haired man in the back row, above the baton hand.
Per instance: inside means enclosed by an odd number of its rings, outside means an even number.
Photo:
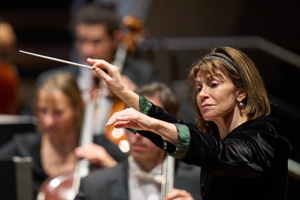
[[[74,52],[71,52],[71,60],[86,63],[86,58],[104,59],[112,62],[118,47],[125,50],[122,44],[125,37],[125,27],[121,18],[103,3],[90,2],[82,6],[71,19],[71,31],[75,39]],[[97,77],[94,71],[88,68],[76,66],[62,66],[59,69],[68,70],[77,76],[77,82],[84,100],[90,98],[94,85],[93,77]],[[43,71],[36,79],[42,82],[55,69]],[[158,80],[158,75],[152,62],[137,59],[127,54],[123,64],[122,75],[133,81],[136,85],[143,82]]]

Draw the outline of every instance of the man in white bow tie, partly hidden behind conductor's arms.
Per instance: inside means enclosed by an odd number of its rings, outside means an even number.
[[[178,113],[178,100],[166,84],[145,84],[137,92],[170,113]],[[160,198],[164,150],[138,133],[126,131],[126,134],[130,147],[127,161],[111,168],[95,170],[82,178],[75,200]],[[201,199],[199,175],[200,167],[176,160],[174,187],[181,189],[178,191],[187,190],[195,199]]]

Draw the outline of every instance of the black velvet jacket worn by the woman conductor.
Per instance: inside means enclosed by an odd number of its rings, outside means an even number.
[[[148,115],[172,123],[186,124],[190,133],[187,154],[181,158],[201,167],[203,199],[284,199],[287,160],[291,146],[278,134],[276,119],[259,117],[233,129],[224,139],[199,132],[158,106]],[[159,135],[139,131],[163,148]],[[175,146],[167,142],[168,152]]]

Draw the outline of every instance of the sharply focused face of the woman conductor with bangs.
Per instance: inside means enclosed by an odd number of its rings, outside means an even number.
[[[232,117],[237,91],[231,80],[218,72],[208,77],[197,75],[195,88],[197,105],[207,121],[223,121]]]

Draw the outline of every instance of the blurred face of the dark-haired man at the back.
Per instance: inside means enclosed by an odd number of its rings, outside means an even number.
[[[75,37],[76,48],[83,61],[88,57],[112,61],[117,42],[108,34],[104,24],[78,24]]]

